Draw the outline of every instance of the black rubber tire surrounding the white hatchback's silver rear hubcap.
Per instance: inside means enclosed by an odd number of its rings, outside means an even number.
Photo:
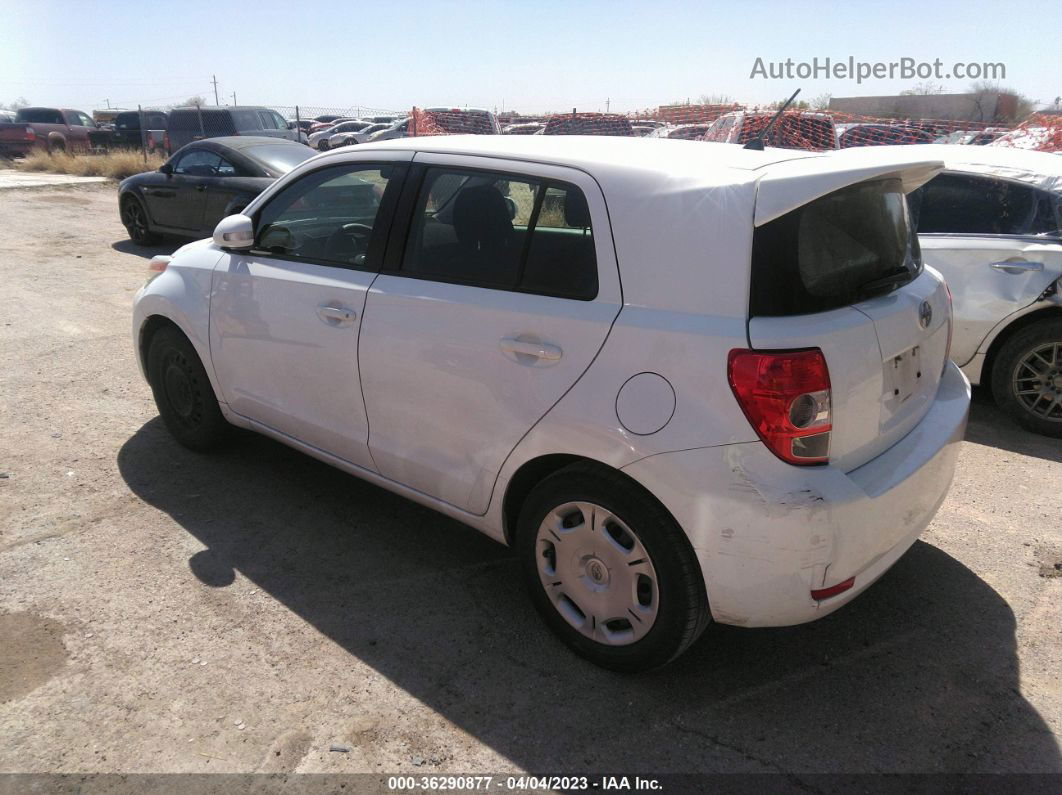
[[[539,525],[554,508],[570,502],[605,508],[631,530],[651,559],[660,600],[655,621],[645,636],[627,645],[609,645],[575,628],[539,576]],[[543,480],[524,503],[515,541],[525,584],[546,624],[577,654],[602,668],[638,672],[663,666],[688,649],[710,622],[704,578],[685,533],[648,491],[605,467],[572,464]]]

